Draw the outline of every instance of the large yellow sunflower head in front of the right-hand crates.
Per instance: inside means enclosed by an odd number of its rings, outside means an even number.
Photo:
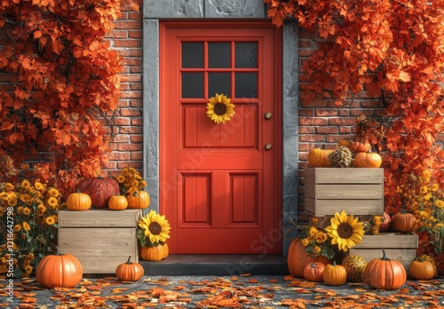
[[[337,244],[339,250],[347,251],[362,241],[364,236],[364,227],[359,218],[353,218],[353,215],[347,216],[345,210],[330,219],[331,226],[325,230],[331,237],[331,243]]]

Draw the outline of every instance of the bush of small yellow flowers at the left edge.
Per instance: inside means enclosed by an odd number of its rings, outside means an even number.
[[[41,258],[52,253],[57,235],[59,190],[24,179],[17,186],[0,184],[0,276],[28,277]],[[13,260],[13,267],[9,260]]]

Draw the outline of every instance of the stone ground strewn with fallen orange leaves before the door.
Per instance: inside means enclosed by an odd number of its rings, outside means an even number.
[[[444,308],[444,278],[408,280],[395,290],[364,283],[332,287],[289,276],[83,277],[74,289],[44,289],[31,278],[0,281],[5,308]],[[13,291],[13,296],[8,292]]]

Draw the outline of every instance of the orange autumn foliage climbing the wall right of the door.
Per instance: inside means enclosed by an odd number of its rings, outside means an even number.
[[[305,103],[330,99],[341,107],[366,93],[384,104],[380,118],[358,119],[356,135],[383,156],[385,210],[400,210],[396,188],[410,174],[431,170],[443,187],[444,1],[264,2],[277,27],[296,19],[322,39],[301,75]]]

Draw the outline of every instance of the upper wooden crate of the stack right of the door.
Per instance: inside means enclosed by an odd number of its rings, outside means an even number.
[[[347,215],[382,216],[384,169],[305,169],[305,211],[314,217]]]

